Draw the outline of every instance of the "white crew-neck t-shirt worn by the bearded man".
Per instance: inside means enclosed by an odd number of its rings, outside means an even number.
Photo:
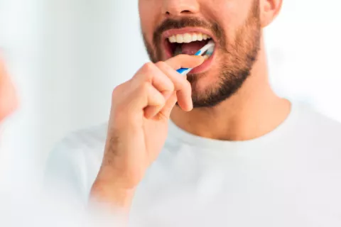
[[[71,184],[86,202],[106,133],[104,125],[65,138],[48,179]],[[341,226],[341,125],[300,104],[274,131],[243,142],[200,138],[170,122],[134,197],[131,218],[139,217],[147,226]]]

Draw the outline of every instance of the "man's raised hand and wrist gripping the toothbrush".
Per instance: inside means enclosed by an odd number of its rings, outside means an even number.
[[[202,62],[203,57],[190,55],[149,62],[114,89],[104,158],[92,196],[129,206],[134,189],[163,148],[175,103],[184,111],[193,109],[190,83],[175,70]]]

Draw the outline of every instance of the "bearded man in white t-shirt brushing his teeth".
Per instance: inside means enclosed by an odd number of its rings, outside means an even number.
[[[340,226],[341,126],[269,85],[262,31],[281,4],[140,0],[151,62],[114,89],[108,126],[60,143],[48,176],[159,226]],[[210,58],[190,56],[210,39]]]

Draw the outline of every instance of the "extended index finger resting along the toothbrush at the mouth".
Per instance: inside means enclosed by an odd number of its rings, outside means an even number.
[[[177,55],[171,57],[165,62],[171,66],[174,70],[180,68],[194,68],[201,65],[205,61],[204,57],[196,55]]]

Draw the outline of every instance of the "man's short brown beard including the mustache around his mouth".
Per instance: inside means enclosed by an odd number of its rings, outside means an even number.
[[[226,38],[224,29],[218,23],[207,23],[197,18],[186,17],[176,21],[173,19],[163,21],[153,34],[153,45],[148,43],[146,35],[143,35],[144,43],[151,61],[155,63],[163,60],[161,34],[164,31],[186,27],[201,27],[212,31],[217,40],[215,52],[220,58],[217,67],[218,72],[215,74],[217,78],[215,83],[206,85],[204,89],[199,89],[202,78],[212,77],[209,71],[200,74],[188,74],[187,79],[192,87],[193,107],[214,107],[236,94],[251,74],[261,42],[259,14],[259,1],[255,0],[244,24],[235,32],[232,42]]]

